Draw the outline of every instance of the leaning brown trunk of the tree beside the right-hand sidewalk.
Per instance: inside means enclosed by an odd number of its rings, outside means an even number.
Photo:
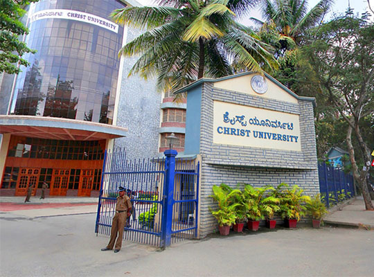
[[[353,150],[352,137],[351,137],[352,129],[353,128],[350,125],[348,125],[346,139],[347,139],[347,145],[348,145],[349,159],[350,159],[350,163],[352,163],[353,177],[355,178],[356,184],[362,190],[362,197],[364,197],[366,211],[374,211],[374,206],[373,206],[373,203],[371,202],[371,197],[368,192],[368,186],[366,185],[368,170],[362,170],[359,173],[359,169],[357,167],[357,163],[355,160],[355,150]]]

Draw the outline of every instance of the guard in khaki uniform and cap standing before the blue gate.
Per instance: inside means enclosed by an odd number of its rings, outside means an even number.
[[[112,250],[114,247],[114,242],[116,241],[116,247],[114,248],[114,253],[117,253],[121,250],[122,238],[123,238],[123,229],[125,228],[126,218],[130,217],[132,204],[130,198],[125,195],[125,188],[122,186],[119,187],[119,196],[117,197],[116,203],[116,214],[112,220],[112,230],[110,232],[110,240],[107,247],[102,248],[101,251]]]

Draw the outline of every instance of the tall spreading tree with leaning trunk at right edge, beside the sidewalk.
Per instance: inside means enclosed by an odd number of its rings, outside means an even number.
[[[353,166],[353,176],[362,189],[366,210],[374,210],[369,195],[371,150],[362,136],[363,118],[374,114],[374,24],[366,15],[357,18],[347,12],[315,29],[309,45],[303,47],[312,71],[317,76],[316,86],[324,98],[339,111],[348,129],[346,142]],[[373,129],[371,129],[374,136]],[[352,135],[358,142],[364,166],[355,159]]]

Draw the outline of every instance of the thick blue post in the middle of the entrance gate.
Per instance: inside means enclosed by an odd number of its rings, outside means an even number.
[[[175,179],[175,156],[178,152],[176,150],[166,150],[163,152],[166,156],[165,171],[166,180],[165,188],[163,188],[163,207],[162,207],[162,227],[161,240],[163,245],[161,247],[168,247],[171,244],[172,232],[172,206],[174,204],[174,179]]]

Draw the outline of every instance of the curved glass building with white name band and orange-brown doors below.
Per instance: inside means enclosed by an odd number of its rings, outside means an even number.
[[[30,5],[21,68],[0,116],[1,195],[91,196],[100,188],[105,149],[127,134],[115,126],[121,80],[118,51],[127,28],[109,17],[134,1],[42,0]]]

